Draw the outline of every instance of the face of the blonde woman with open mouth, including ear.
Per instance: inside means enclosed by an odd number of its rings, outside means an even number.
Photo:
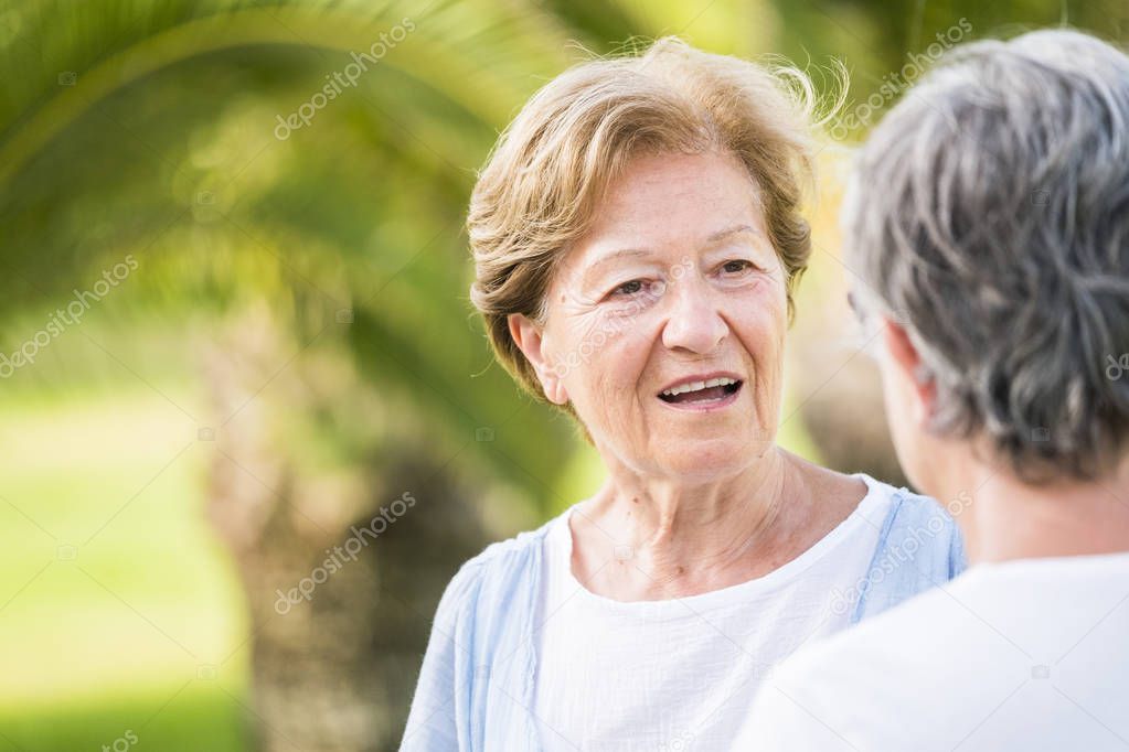
[[[546,396],[572,401],[605,461],[703,480],[772,443],[786,328],[755,187],[717,153],[630,162],[562,259],[544,329],[510,318]],[[710,387],[719,377],[737,383]]]

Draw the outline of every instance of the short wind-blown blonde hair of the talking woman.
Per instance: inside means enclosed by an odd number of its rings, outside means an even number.
[[[466,220],[471,301],[506,370],[548,401],[507,317],[544,324],[558,262],[590,227],[607,186],[644,153],[717,150],[744,165],[786,272],[790,315],[811,254],[799,203],[812,175],[814,101],[794,68],[701,52],[675,37],[641,55],[580,63],[537,91],[479,174]],[[571,404],[562,409],[578,417]]]

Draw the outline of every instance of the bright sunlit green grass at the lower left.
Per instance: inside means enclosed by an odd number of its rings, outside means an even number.
[[[131,749],[245,750],[246,616],[193,419],[141,382],[14,386],[0,413],[0,752],[126,731]]]

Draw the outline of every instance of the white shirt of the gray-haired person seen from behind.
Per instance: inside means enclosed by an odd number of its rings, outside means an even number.
[[[1129,554],[979,564],[822,640],[734,749],[1126,752]]]

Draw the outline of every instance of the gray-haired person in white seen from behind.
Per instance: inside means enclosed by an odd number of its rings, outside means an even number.
[[[972,566],[794,655],[741,750],[1129,750],[1129,57],[954,51],[843,225],[899,458]]]

